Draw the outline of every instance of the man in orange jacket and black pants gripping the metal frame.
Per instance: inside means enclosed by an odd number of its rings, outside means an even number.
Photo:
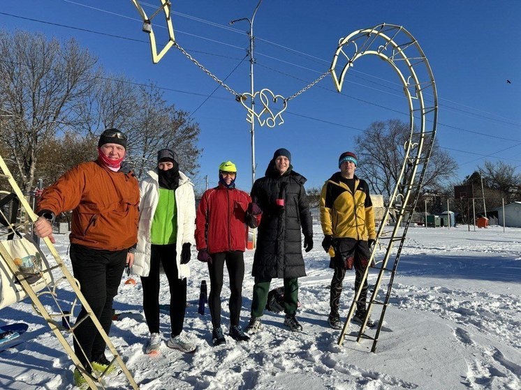
[[[98,142],[98,159],[68,170],[46,188],[38,203],[34,231],[38,237],[52,237],[54,217],[73,211],[71,263],[74,277],[105,333],[112,324],[112,301],[117,294],[126,264],[132,266],[138,238],[138,180],[125,167],[126,135],[110,128]],[[84,307],[79,322],[87,314]],[[87,372],[105,370],[105,341],[91,320],[74,330],[75,353]],[[85,382],[78,368],[75,384]]]

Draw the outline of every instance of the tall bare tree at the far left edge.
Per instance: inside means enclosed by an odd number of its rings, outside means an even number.
[[[93,86],[96,58],[75,40],[0,31],[0,108],[13,117],[0,142],[14,161],[22,190],[33,186],[38,152],[75,120],[73,108]]]

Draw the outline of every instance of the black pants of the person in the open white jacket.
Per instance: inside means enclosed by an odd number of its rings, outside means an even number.
[[[170,288],[170,325],[173,337],[183,330],[186,312],[186,278],[179,279],[175,257],[175,243],[152,245],[150,273],[146,278],[141,277],[143,310],[145,310],[148,330],[150,333],[159,333],[159,263],[161,262]]]

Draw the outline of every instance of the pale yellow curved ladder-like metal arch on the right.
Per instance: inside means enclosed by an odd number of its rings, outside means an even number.
[[[365,318],[358,332],[357,342],[361,338],[373,340],[372,352],[376,352],[383,318],[389,305],[392,283],[397,273],[399,257],[404,248],[407,231],[411,225],[416,203],[421,195],[423,181],[427,174],[427,165],[434,147],[438,117],[438,97],[434,76],[418,41],[401,26],[393,24],[379,24],[372,29],[354,31],[346,38],[339,41],[335,57],[333,57],[331,72],[333,81],[338,91],[342,89],[344,76],[353,66],[356,59],[365,55],[374,55],[383,59],[392,66],[402,82],[404,94],[409,105],[409,140],[404,144],[404,161],[399,176],[395,178],[396,186],[389,198],[389,204],[381,221],[376,246],[386,247],[386,253],[379,261],[379,273],[372,295],[368,301]],[[344,61],[339,66],[339,61]],[[341,71],[337,75],[336,69]],[[391,214],[395,216],[395,225],[392,234],[383,234],[383,229],[390,221]],[[400,229],[403,227],[402,231]],[[386,237],[384,237],[384,235]],[[387,241],[387,242],[386,242]],[[386,244],[385,244],[386,242]],[[398,244],[396,250],[395,244]],[[376,250],[372,251],[369,264],[374,264]],[[389,267],[390,266],[390,267]],[[367,267],[360,283],[360,288],[355,292],[353,302],[349,308],[346,322],[340,333],[338,344],[344,343],[346,331],[359,302],[362,286],[369,273]],[[381,288],[384,276],[390,274],[387,291],[383,301],[376,299]],[[374,336],[366,333],[367,321],[374,306],[381,306],[381,314]]]

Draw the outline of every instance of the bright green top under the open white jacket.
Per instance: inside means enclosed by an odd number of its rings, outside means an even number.
[[[175,192],[166,188],[159,188],[157,203],[152,227],[150,228],[150,242],[155,245],[168,245],[177,240],[177,207],[175,207]]]

